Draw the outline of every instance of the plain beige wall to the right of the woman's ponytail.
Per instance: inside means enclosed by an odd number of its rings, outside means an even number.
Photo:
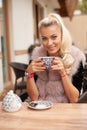
[[[70,30],[75,45],[84,52],[87,50],[87,15],[74,16],[70,21],[64,18],[65,25]]]

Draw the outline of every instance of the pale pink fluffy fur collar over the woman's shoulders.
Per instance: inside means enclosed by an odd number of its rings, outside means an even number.
[[[71,46],[71,55],[74,57],[75,60],[71,67],[70,76],[72,77],[77,72],[81,61],[83,66],[85,65],[86,58],[84,53],[75,46]],[[31,58],[35,59],[37,57],[42,57],[42,56],[47,56],[47,51],[43,48],[43,46],[40,46],[34,49]]]

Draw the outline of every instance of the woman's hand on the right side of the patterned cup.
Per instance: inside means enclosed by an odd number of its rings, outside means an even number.
[[[61,58],[55,57],[53,61],[53,66],[51,68],[52,70],[58,70],[61,76],[66,73],[66,70],[64,68],[64,64]]]

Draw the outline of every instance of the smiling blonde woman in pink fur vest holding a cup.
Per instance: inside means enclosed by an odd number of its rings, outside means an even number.
[[[57,14],[51,13],[41,20],[39,32],[41,46],[34,49],[32,62],[26,69],[30,99],[57,103],[77,102],[82,84],[84,54],[72,46],[69,31]],[[54,57],[49,71],[41,61],[44,56]],[[36,81],[34,75],[37,75]],[[80,86],[76,86],[76,83]]]

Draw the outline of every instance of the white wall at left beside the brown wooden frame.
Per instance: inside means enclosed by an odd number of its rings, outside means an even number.
[[[32,0],[10,0],[11,50],[27,50],[34,42],[32,7]],[[15,61],[28,62],[27,58],[26,54],[19,56],[12,53]]]

